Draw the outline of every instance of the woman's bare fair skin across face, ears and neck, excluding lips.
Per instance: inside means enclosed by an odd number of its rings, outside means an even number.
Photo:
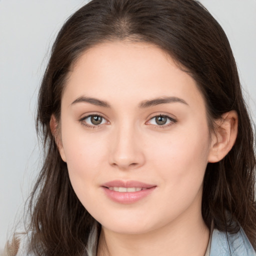
[[[166,96],[180,101],[141,107]],[[93,125],[90,114],[102,122]],[[169,116],[164,125],[154,118],[160,114]],[[84,52],[63,91],[58,147],[75,193],[102,225],[97,255],[204,255],[203,176],[209,161],[230,150],[236,124],[235,112],[227,113],[211,133],[195,81],[154,45],[116,41]],[[53,116],[53,133],[56,125]],[[116,179],[156,187],[134,203],[118,203],[102,189]]]

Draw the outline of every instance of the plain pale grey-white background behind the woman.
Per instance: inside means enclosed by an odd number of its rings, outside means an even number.
[[[64,20],[85,2],[0,0],[0,250],[38,171],[35,102],[50,46]],[[201,2],[229,38],[255,121],[256,0]]]

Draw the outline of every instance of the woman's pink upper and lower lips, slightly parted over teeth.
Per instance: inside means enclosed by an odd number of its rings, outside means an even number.
[[[154,190],[156,185],[146,184],[134,180],[112,180],[102,184],[101,187],[111,200],[118,203],[133,203],[149,195]],[[134,188],[136,188],[137,191],[116,191],[117,188],[119,188],[119,190],[123,190],[124,188],[134,190]],[[139,188],[141,188],[141,190],[138,190]]]

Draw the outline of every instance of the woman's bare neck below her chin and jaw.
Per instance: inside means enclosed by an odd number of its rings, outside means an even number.
[[[209,229],[201,214],[179,216],[140,234],[116,233],[102,226],[97,256],[203,256],[208,240]]]

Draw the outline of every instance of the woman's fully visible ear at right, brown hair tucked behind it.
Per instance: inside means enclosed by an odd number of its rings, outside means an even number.
[[[238,127],[238,116],[235,110],[224,113],[215,121],[216,128],[211,135],[208,162],[220,161],[232,148]]]

